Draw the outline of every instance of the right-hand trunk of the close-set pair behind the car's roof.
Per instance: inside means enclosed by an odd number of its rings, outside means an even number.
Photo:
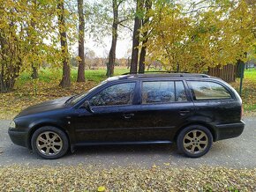
[[[145,7],[146,7],[146,13],[147,13],[152,7],[152,1],[146,0]],[[149,18],[146,15],[142,21],[142,26],[145,26],[148,21],[149,21]],[[140,55],[139,55],[139,73],[145,72],[145,57],[146,57],[146,53],[147,53],[146,43],[148,40],[147,35],[148,35],[148,31],[143,33],[142,48],[140,50]]]

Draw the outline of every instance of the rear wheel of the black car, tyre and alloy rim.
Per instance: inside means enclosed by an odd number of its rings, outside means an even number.
[[[200,158],[213,144],[209,129],[201,125],[191,125],[182,129],[177,136],[177,149],[189,158]]]

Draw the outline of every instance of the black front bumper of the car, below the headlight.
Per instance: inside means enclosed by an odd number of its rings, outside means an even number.
[[[13,144],[18,144],[20,146],[27,147],[27,132],[25,130],[19,129],[8,129],[9,137]]]

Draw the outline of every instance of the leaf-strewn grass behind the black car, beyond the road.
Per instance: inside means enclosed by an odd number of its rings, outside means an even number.
[[[115,69],[115,75],[128,72],[126,68]],[[30,74],[24,72],[17,79],[13,92],[1,93],[0,119],[11,119],[20,110],[44,100],[86,92],[106,78],[106,70],[86,70],[87,81],[77,83],[77,69],[72,69],[72,87],[63,89],[58,86],[62,76],[61,70],[45,69],[39,71],[39,79],[32,80]],[[239,90],[239,79],[232,83]],[[256,70],[245,70],[242,99],[245,114],[256,114]]]

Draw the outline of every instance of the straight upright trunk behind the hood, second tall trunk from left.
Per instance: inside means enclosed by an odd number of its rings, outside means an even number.
[[[85,82],[85,18],[84,18],[84,2],[78,0],[79,10],[79,70],[78,70],[78,82]]]

